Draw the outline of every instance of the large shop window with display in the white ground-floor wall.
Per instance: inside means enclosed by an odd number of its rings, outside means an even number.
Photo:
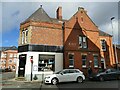
[[[55,55],[39,55],[38,71],[55,71]]]

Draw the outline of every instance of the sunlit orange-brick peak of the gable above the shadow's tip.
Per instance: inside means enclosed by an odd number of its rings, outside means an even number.
[[[73,28],[76,22],[79,23],[82,29],[98,31],[97,26],[90,19],[83,8],[79,8],[78,11],[68,21],[65,22],[65,26],[68,28]]]

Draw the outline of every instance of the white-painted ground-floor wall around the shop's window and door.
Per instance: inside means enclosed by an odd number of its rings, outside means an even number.
[[[45,75],[52,74],[52,71],[48,72],[38,72],[38,59],[39,54],[47,54],[47,55],[55,55],[55,72],[60,71],[63,69],[63,53],[54,53],[54,52],[23,52],[18,53],[18,57],[21,54],[27,54],[26,59],[26,65],[25,65],[25,79],[27,81],[30,81],[31,77],[31,62],[30,62],[30,56],[33,56],[33,78],[36,75],[39,81],[43,80],[43,77]],[[16,77],[18,77],[18,66],[19,66],[19,60],[17,61],[17,70],[16,70]]]

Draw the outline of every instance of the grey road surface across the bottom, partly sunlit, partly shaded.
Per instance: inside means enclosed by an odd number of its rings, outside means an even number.
[[[38,81],[26,82],[17,81],[14,79],[14,73],[4,73],[1,81],[2,90],[66,90],[66,89],[79,89],[79,90],[120,90],[120,80],[113,81],[84,81],[84,83],[59,83],[58,85],[43,84]],[[10,77],[11,76],[11,77]],[[8,79],[11,78],[11,79]]]

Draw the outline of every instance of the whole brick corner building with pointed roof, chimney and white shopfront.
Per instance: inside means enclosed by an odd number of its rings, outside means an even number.
[[[36,66],[34,74],[52,66],[52,71],[79,68],[87,75],[88,67],[96,72],[115,64],[112,36],[100,31],[84,8],[79,7],[69,20],[62,19],[62,7],[56,12],[56,18],[51,18],[40,7],[21,23],[18,77],[25,75],[29,80],[31,56]],[[49,65],[50,59],[54,64]]]

